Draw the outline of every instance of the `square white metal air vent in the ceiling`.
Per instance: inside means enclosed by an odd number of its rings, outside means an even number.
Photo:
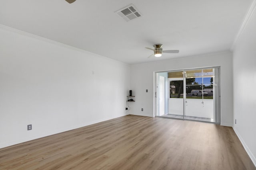
[[[136,9],[136,7],[133,4],[130,4],[118,11],[116,11],[116,14],[118,16],[124,18],[126,21],[130,21],[136,18],[141,17],[141,13]]]

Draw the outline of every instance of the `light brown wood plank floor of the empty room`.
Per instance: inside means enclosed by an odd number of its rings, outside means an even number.
[[[0,149],[0,169],[256,170],[231,127],[135,115]]]

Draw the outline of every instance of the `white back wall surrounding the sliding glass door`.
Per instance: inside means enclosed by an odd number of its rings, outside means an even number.
[[[206,66],[220,66],[221,124],[232,126],[232,53],[228,51],[131,65],[130,87],[136,96],[136,102],[132,104],[130,113],[150,117],[154,116],[154,71],[178,70]],[[148,89],[149,92],[145,93],[145,89]],[[141,108],[144,108],[144,111],[141,111]]]

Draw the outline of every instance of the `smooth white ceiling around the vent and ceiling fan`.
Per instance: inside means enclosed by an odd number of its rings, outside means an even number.
[[[252,0],[0,0],[0,24],[125,63],[229,50]],[[141,18],[115,11],[134,4]],[[151,47],[179,54],[148,56]]]

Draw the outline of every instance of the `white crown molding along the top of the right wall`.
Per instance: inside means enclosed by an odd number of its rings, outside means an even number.
[[[248,22],[250,21],[250,18],[252,17],[252,14],[254,13],[256,8],[256,0],[252,1],[252,4],[250,5],[250,8],[248,9],[246,16],[244,18],[244,21],[242,22],[242,25],[240,26],[240,29],[236,35],[236,38],[234,39],[234,42],[230,48],[230,51],[234,50],[234,47],[236,46],[236,43],[238,41],[238,39],[240,38],[240,36],[242,35],[242,33],[244,32],[244,29],[246,28],[246,25],[248,24]]]

